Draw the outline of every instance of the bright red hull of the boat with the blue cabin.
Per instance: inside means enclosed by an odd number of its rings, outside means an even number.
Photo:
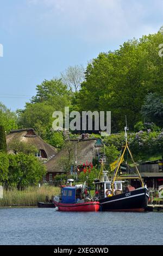
[[[59,211],[99,211],[99,202],[85,202],[79,204],[63,204],[54,201]]]

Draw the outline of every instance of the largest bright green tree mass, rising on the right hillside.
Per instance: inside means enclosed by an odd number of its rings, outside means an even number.
[[[111,111],[112,131],[120,131],[127,115],[130,130],[142,119],[141,106],[148,93],[163,88],[163,58],[159,44],[163,29],[140,40],[124,42],[115,52],[100,53],[87,65],[85,81],[76,101],[80,111]]]

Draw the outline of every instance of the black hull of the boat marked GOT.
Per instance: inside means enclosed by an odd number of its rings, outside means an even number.
[[[148,190],[145,187],[99,200],[102,211],[144,211],[148,204]]]

